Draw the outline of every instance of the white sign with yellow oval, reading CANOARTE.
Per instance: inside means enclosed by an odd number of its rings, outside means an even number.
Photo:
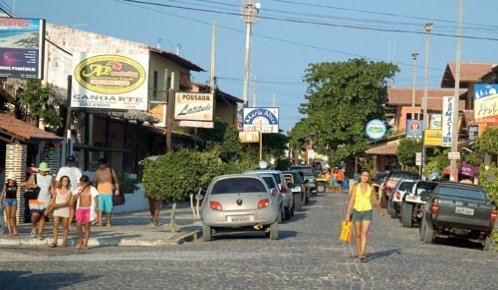
[[[71,106],[147,110],[148,55],[78,53]]]

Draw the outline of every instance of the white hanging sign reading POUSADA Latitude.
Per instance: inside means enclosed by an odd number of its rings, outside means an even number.
[[[213,121],[214,97],[204,93],[176,93],[175,120]]]

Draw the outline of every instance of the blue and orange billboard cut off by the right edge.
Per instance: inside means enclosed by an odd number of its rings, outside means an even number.
[[[498,124],[498,84],[474,85],[474,119],[476,123]]]

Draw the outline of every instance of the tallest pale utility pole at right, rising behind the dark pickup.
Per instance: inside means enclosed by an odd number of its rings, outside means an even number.
[[[458,151],[458,103],[460,96],[460,61],[462,58],[462,21],[463,21],[463,0],[458,0],[458,32],[457,32],[457,53],[455,59],[455,92],[453,93],[453,111],[452,111],[452,134],[451,134],[451,152]],[[451,159],[450,180],[458,181],[458,169],[456,159]]]

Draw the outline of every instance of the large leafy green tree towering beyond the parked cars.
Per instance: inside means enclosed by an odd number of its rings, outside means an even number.
[[[352,59],[347,62],[311,64],[306,70],[308,132],[315,132],[315,150],[328,153],[334,161],[363,151],[368,139],[366,123],[384,118],[386,80],[398,67],[391,63]]]

